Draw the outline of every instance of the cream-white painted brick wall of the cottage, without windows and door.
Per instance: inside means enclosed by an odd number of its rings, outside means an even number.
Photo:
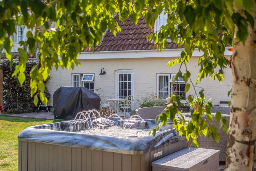
[[[127,58],[127,59],[88,59],[80,60],[81,66],[77,66],[72,70],[61,68],[56,71],[51,71],[52,79],[46,85],[53,96],[60,86],[72,86],[72,73],[95,73],[95,88],[100,87],[102,93],[108,94],[111,98],[115,97],[115,72],[120,69],[134,70],[135,79],[135,100],[139,100],[142,95],[154,92],[156,93],[157,73],[177,73],[179,65],[167,67],[167,62],[175,58]],[[192,57],[187,64],[188,70],[192,75],[192,81],[195,82],[199,70],[198,57]],[[104,67],[106,74],[100,77],[101,68]],[[219,68],[217,68],[217,71]],[[182,72],[185,72],[184,66]],[[219,104],[220,101],[229,101],[227,92],[232,87],[232,73],[230,68],[224,68],[225,79],[220,84],[219,81],[210,78],[202,79],[197,86],[205,89],[205,97],[212,98],[213,104]],[[201,88],[196,88],[197,92]],[[194,89],[191,87],[189,94],[194,94]],[[53,105],[53,98],[49,101],[49,105]],[[137,105],[135,106],[138,107]]]

